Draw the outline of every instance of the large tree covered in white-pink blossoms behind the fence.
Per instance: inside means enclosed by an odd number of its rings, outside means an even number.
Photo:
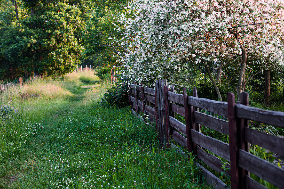
[[[283,64],[280,0],[136,0],[125,8],[126,13],[116,17],[120,24],[116,29],[124,35],[116,43],[127,49],[119,58],[125,76],[137,82],[162,77],[172,83],[183,81],[187,75],[180,73],[203,64],[222,100],[216,83],[225,58],[237,56],[239,100],[245,90],[248,53]],[[217,68],[215,80],[209,66]]]

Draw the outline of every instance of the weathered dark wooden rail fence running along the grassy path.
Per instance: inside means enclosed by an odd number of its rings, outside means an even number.
[[[195,87],[193,96],[187,96],[185,88],[183,94],[176,94],[173,86],[168,89],[166,80],[157,80],[155,89],[130,84],[129,91],[131,112],[141,112],[144,118],[147,114],[151,121],[155,120],[161,144],[184,153],[174,144],[178,143],[188,152],[193,152],[211,170],[219,173],[224,172],[221,159],[227,160],[229,165],[226,174],[230,176],[231,188],[265,188],[252,179],[250,173],[278,188],[284,188],[284,169],[249,151],[249,144],[256,144],[284,156],[283,138],[249,128],[249,120],[283,128],[284,112],[249,107],[249,95],[246,92],[241,94],[241,103],[235,103],[233,93],[228,93],[227,97],[228,102],[198,98]],[[202,113],[204,110],[215,116]],[[181,116],[185,118],[185,124],[176,119]],[[229,143],[202,134],[200,125],[229,135]],[[201,164],[198,163],[198,166],[209,184],[215,188],[228,188],[219,177]]]

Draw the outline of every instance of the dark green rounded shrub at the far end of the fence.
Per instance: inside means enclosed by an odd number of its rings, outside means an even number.
[[[127,106],[127,83],[125,81],[114,82],[114,85],[106,90],[104,97],[101,99],[101,104],[105,107]]]

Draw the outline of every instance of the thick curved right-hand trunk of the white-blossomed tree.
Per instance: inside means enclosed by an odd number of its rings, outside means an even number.
[[[243,92],[243,85],[245,85],[245,83],[243,83],[244,74],[245,74],[245,69],[247,66],[247,50],[245,50],[242,45],[241,45],[241,49],[242,49],[242,58],[241,58],[241,70],[239,73],[239,80],[237,84],[237,95],[238,95],[237,102],[241,101],[241,93]]]

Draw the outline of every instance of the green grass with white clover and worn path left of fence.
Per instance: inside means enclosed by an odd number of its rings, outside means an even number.
[[[161,148],[128,108],[103,108],[110,85],[82,88],[79,74],[0,95],[17,110],[0,113],[0,188],[209,188],[194,157]]]

